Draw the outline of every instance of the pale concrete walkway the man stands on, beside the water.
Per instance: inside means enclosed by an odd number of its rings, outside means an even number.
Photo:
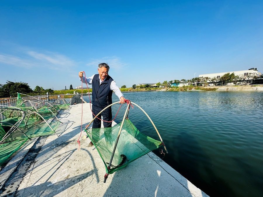
[[[103,183],[104,164],[95,147],[88,146],[86,133],[78,151],[81,107],[60,111],[64,123],[57,129],[60,136],[34,142],[1,196],[207,196],[153,153],[109,175]],[[92,119],[89,103],[83,109],[82,129]]]

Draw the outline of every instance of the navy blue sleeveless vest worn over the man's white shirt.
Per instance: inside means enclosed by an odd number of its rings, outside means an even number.
[[[92,104],[96,107],[107,107],[112,104],[112,90],[110,84],[113,79],[108,75],[100,84],[99,74],[95,74],[92,79]]]

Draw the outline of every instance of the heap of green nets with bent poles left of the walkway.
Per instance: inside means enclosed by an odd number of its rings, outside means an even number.
[[[37,103],[38,102],[38,103]],[[57,113],[69,104],[48,104],[34,100],[30,106],[18,93],[15,102],[0,107],[0,165],[28,140],[54,134],[60,122]]]

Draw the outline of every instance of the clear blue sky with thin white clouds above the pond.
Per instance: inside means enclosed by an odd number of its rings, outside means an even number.
[[[0,83],[54,90],[108,62],[120,87],[263,72],[263,1],[0,1]]]

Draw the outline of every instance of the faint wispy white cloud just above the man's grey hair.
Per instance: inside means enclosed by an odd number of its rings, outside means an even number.
[[[98,66],[100,63],[107,63],[110,66],[110,69],[122,69],[127,64],[121,62],[120,58],[117,56],[112,57],[103,57],[101,59],[92,60],[91,62],[87,63],[87,66]]]

